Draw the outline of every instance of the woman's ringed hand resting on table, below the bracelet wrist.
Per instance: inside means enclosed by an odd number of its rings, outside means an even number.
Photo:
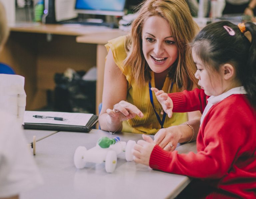
[[[180,133],[182,133],[179,127],[171,126],[160,129],[154,136],[154,143],[166,151],[174,151],[178,144]]]

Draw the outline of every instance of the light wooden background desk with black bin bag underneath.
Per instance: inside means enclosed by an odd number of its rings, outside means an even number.
[[[97,66],[96,111],[102,100],[108,40],[127,34],[103,26],[17,23],[0,54],[0,61],[25,77],[26,110],[47,105],[47,90],[55,88],[54,74],[67,68],[87,71]],[[77,36],[85,36],[79,37]],[[79,43],[78,43],[79,42]]]

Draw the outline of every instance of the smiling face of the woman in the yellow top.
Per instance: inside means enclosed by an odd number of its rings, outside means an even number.
[[[160,16],[149,17],[142,28],[143,55],[155,73],[167,70],[178,57],[178,48],[168,22]]]

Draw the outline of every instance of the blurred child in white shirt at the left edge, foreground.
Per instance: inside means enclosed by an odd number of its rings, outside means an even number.
[[[0,52],[8,39],[8,35],[6,13],[0,1]],[[29,153],[26,146],[27,141],[20,120],[17,115],[13,114],[15,108],[11,108],[18,101],[15,101],[14,97],[17,88],[12,87],[12,90],[7,92],[12,98],[7,98],[7,93],[4,91],[11,87],[7,87],[7,85],[8,82],[6,85],[0,85],[0,198],[18,199],[22,193],[42,185],[43,179],[31,152]],[[5,103],[7,99],[12,99],[12,101]],[[2,110],[3,104],[8,104],[5,109],[10,108],[10,110]],[[17,109],[19,109],[18,104]]]

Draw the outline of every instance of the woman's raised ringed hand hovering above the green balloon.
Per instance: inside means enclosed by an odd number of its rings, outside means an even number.
[[[113,109],[107,109],[107,114],[110,117],[109,123],[121,122],[134,118],[136,115],[143,117],[143,113],[134,105],[124,100],[115,104]]]

